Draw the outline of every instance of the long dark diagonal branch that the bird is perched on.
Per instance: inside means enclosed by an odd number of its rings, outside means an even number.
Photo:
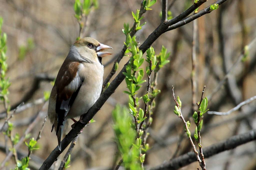
[[[223,2],[225,2],[227,0],[218,0],[216,1],[216,3],[218,3],[219,5],[222,4]],[[209,13],[209,12],[208,12]],[[200,17],[201,14],[200,11],[195,14],[193,17],[191,18],[191,21],[193,21],[194,19]],[[205,13],[206,14],[206,13]],[[202,15],[202,14],[201,14]],[[186,16],[185,16],[186,17]],[[172,29],[178,28],[180,26],[185,25],[184,24],[179,24],[176,25],[174,27],[172,27]],[[139,47],[140,50],[142,50],[143,53],[146,52],[146,50],[152,45],[153,42],[156,41],[156,39],[162,35],[164,32],[168,31],[167,30],[168,25],[164,24],[160,24],[149,36],[148,38],[143,42],[143,44]],[[123,57],[123,56],[121,56]],[[94,103],[94,105],[88,110],[88,112],[86,114],[83,115],[82,117],[82,121],[83,123],[81,123],[80,121],[78,121],[75,125],[74,125],[74,129],[71,129],[69,131],[69,133],[65,136],[65,138],[61,141],[61,151],[59,151],[58,146],[50,153],[50,155],[47,157],[47,159],[44,161],[44,163],[42,164],[42,166],[40,167],[40,169],[49,169],[51,167],[51,165],[55,162],[55,160],[57,159],[57,157],[63,152],[63,150],[66,149],[66,147],[69,145],[69,143],[75,138],[77,137],[77,135],[79,134],[79,132],[81,131],[81,129],[93,118],[93,116],[100,110],[100,108],[102,107],[102,105],[106,102],[106,100],[109,98],[109,96],[115,92],[116,88],[121,84],[121,82],[124,80],[125,76],[123,74],[123,72],[126,71],[126,65],[129,63],[129,61],[124,65],[124,67],[122,68],[122,70],[119,72],[119,74],[115,77],[115,79],[110,83],[109,87],[100,95],[99,99]],[[111,76],[112,77],[112,76]]]

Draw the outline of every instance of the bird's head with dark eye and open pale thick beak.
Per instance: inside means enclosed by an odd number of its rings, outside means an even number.
[[[106,49],[113,49],[112,47],[99,43],[99,41],[91,38],[84,37],[77,40],[74,45],[77,47],[81,57],[94,61],[99,59],[101,61],[102,57],[111,55],[110,52],[103,52]]]

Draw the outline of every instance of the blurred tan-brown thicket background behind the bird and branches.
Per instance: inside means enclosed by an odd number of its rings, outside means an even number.
[[[99,8],[92,10],[87,18],[83,37],[92,37],[114,48],[113,55],[102,60],[104,78],[113,66],[125,41],[122,32],[123,23],[133,24],[131,11],[140,8],[139,0],[99,0]],[[169,10],[175,17],[193,4],[193,0],[169,0]],[[215,1],[208,0],[199,10]],[[79,25],[74,17],[73,0],[0,0],[0,16],[4,23],[2,31],[7,38],[7,76],[10,78],[9,100],[12,109],[25,102],[10,121],[16,132],[22,136],[28,126],[35,122],[31,137],[37,137],[38,131],[47,115],[48,103],[44,102],[44,92],[51,91],[50,83],[67,56],[69,47],[79,34]],[[143,43],[148,35],[159,25],[161,1],[144,14],[142,22],[146,25],[139,30],[137,41]],[[153,43],[158,54],[164,45],[171,52],[170,63],[159,72],[157,88],[161,93],[156,98],[148,143],[145,167],[153,167],[172,157],[191,151],[183,130],[182,122],[173,113],[174,101],[171,95],[172,85],[175,94],[182,100],[183,115],[190,121],[192,111],[191,56],[193,35],[196,33],[195,99],[199,101],[203,86],[209,101],[210,111],[226,112],[240,102],[256,95],[256,1],[228,0],[215,11],[197,19],[198,31],[193,32],[193,22],[178,29],[164,33]],[[244,47],[249,49],[244,52]],[[112,51],[111,51],[112,52]],[[240,55],[247,54],[242,61],[234,63]],[[127,62],[125,56],[118,72]],[[232,67],[234,65],[234,67]],[[231,71],[229,71],[231,69]],[[229,72],[228,81],[216,91],[219,83]],[[113,76],[115,77],[115,75]],[[116,89],[102,109],[94,116],[96,122],[83,129],[71,154],[69,169],[109,169],[120,160],[114,142],[111,112],[117,103],[126,105],[128,97],[123,93],[125,82]],[[141,93],[146,92],[146,83]],[[21,107],[20,107],[21,108]],[[225,140],[233,135],[256,128],[256,102],[243,106],[228,116],[204,115],[204,127],[201,131],[203,147]],[[5,115],[1,105],[0,125]],[[69,122],[66,133],[70,130]],[[2,127],[2,126],[1,126]],[[194,124],[191,125],[194,129]],[[177,145],[177,143],[180,143]],[[7,143],[10,146],[10,143]],[[38,169],[49,153],[57,146],[55,133],[51,133],[48,119],[38,141],[39,150],[31,155],[31,169]],[[5,138],[0,134],[0,161],[4,160]],[[19,154],[27,154],[27,146],[18,148]],[[238,148],[220,153],[206,159],[207,169],[256,169],[256,141]],[[58,168],[64,154],[51,169]],[[6,169],[14,168],[13,159]],[[196,169],[198,162],[182,169]],[[121,168],[120,168],[121,169]]]

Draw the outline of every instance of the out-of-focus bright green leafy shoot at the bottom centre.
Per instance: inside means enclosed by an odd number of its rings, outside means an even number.
[[[129,116],[127,109],[117,105],[112,112],[112,116],[116,142],[118,143],[118,149],[123,157],[124,167],[131,170],[142,169],[140,166],[140,152],[138,149],[138,147],[141,146],[141,140],[140,138],[137,138],[134,143],[136,131],[132,127],[132,119]]]

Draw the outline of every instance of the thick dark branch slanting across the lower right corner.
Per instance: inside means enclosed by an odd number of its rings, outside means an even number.
[[[232,136],[223,142],[219,142],[209,147],[206,147],[204,149],[204,157],[211,157],[223,151],[234,149],[242,144],[248,143],[253,140],[256,140],[256,129],[250,130],[247,133]],[[194,152],[188,152],[166,163],[163,163],[162,165],[151,168],[150,170],[174,170],[189,165],[190,163],[193,163],[195,161],[197,161],[197,159]]]

